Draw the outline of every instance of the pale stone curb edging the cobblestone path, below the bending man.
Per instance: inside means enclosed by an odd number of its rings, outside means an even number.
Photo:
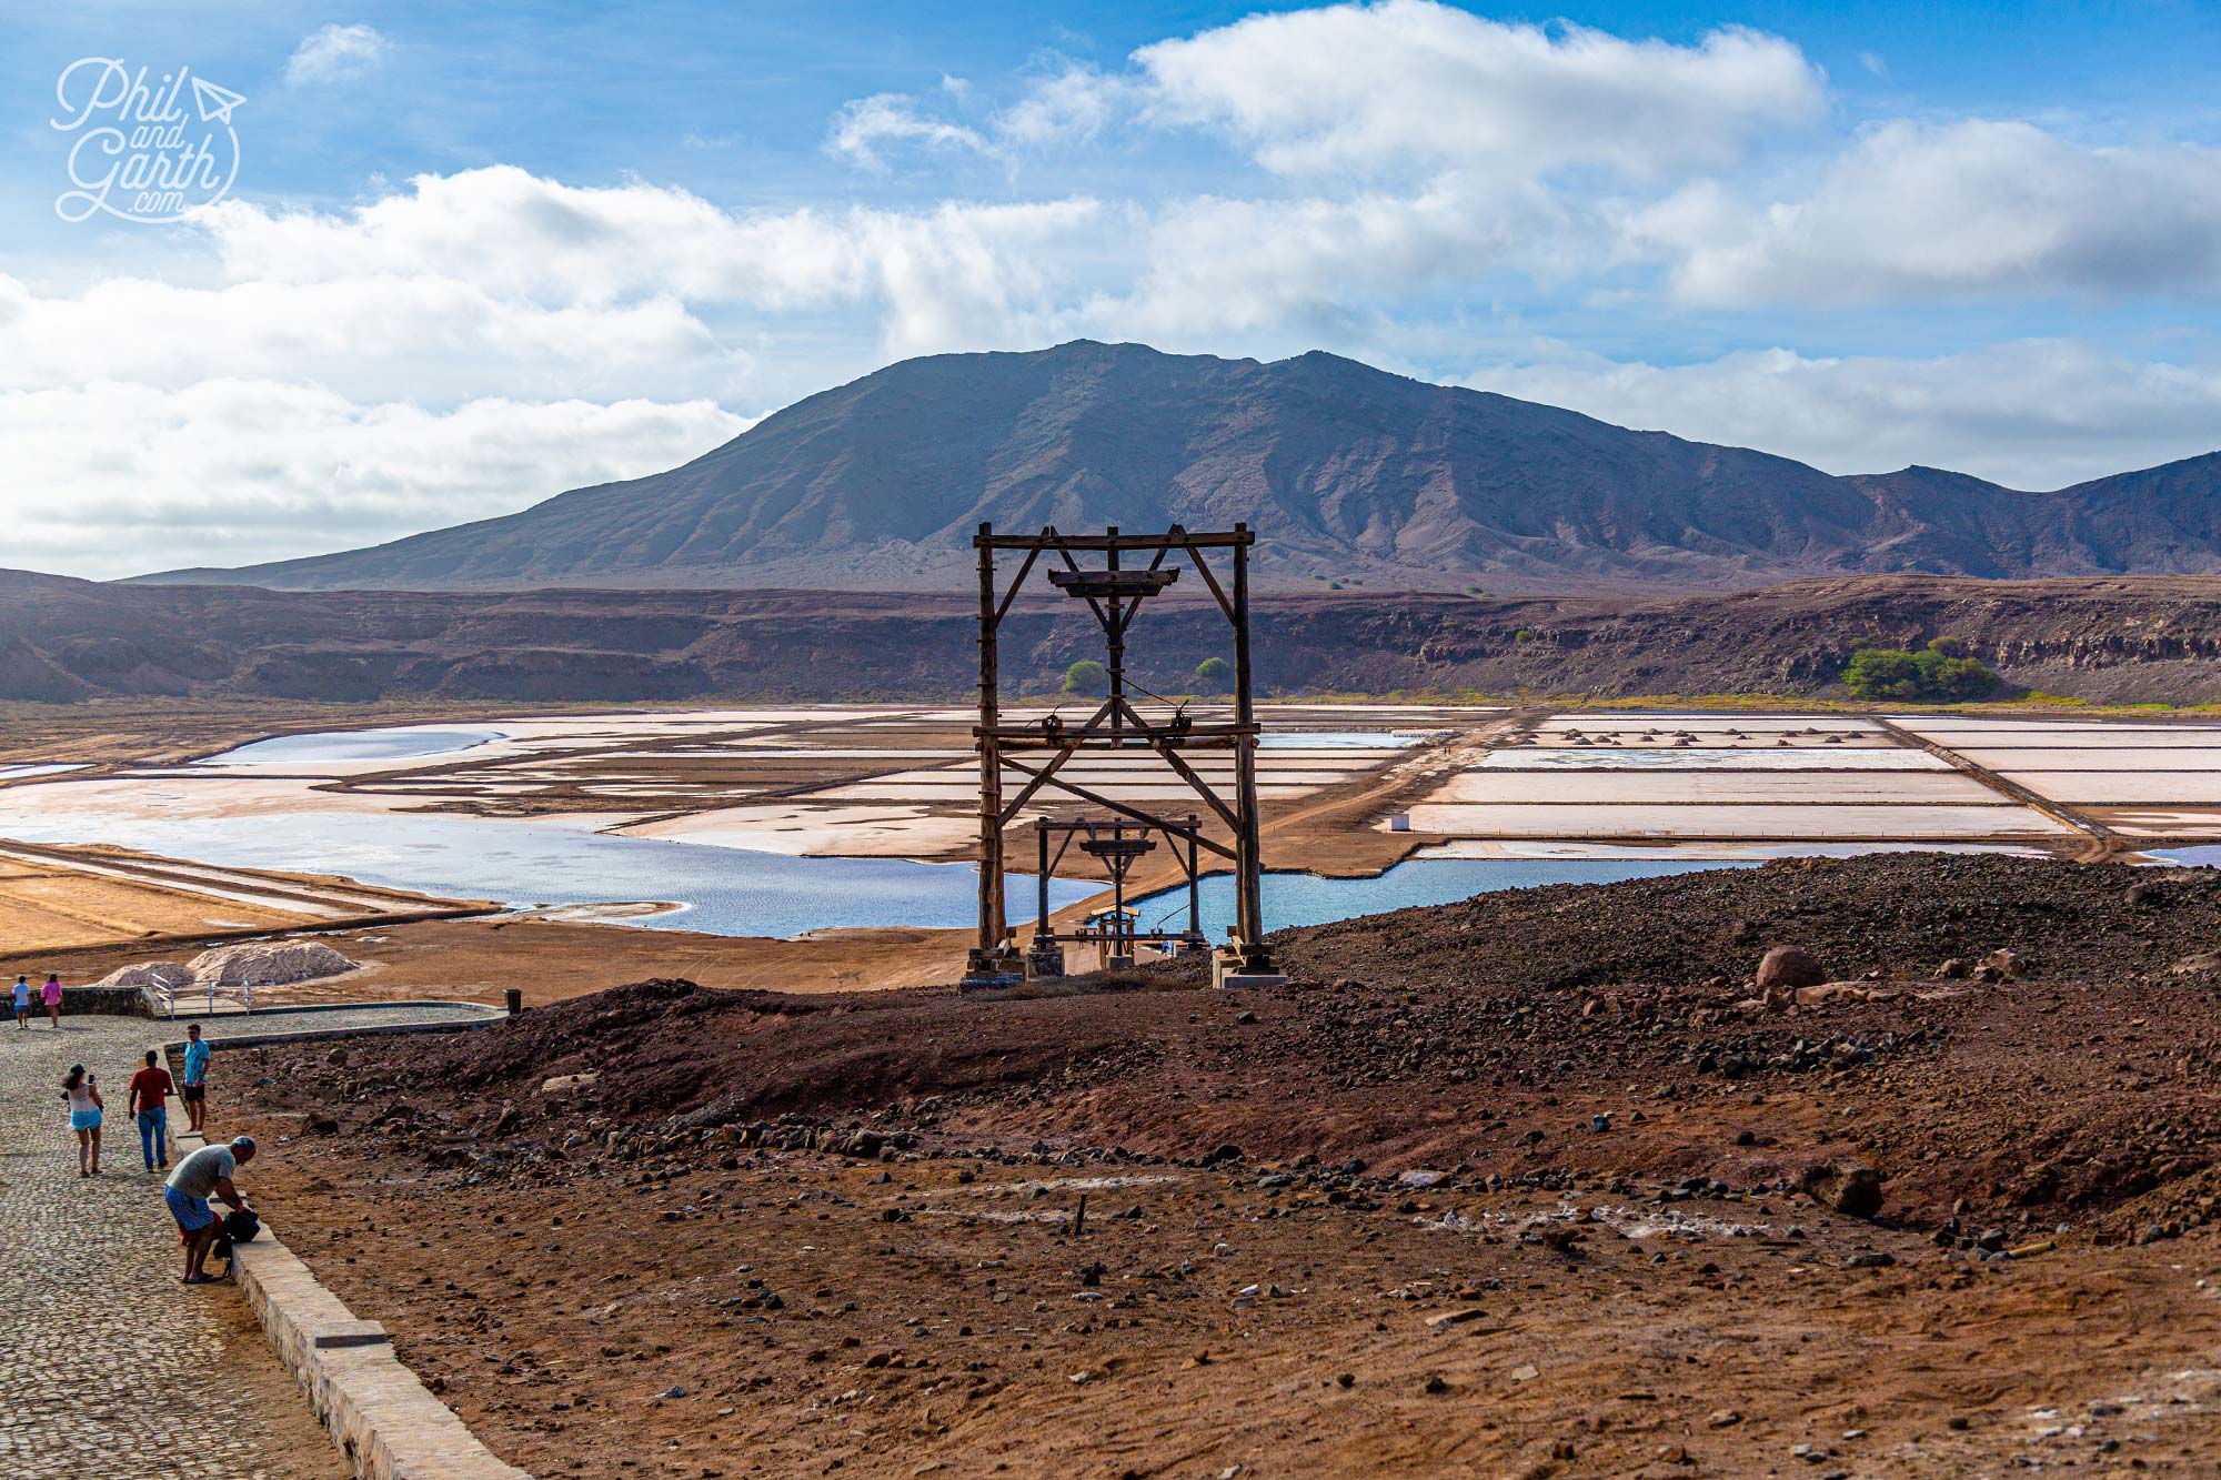
[[[207,1144],[191,1131],[173,1140],[180,1156]],[[386,1329],[355,1320],[269,1227],[233,1244],[231,1278],[355,1480],[531,1480],[480,1444],[402,1367]]]

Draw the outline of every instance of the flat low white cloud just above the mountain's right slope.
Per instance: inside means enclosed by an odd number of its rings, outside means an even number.
[[[1544,347],[1466,384],[1830,473],[1919,462],[2034,491],[2221,447],[2221,362],[2128,360],[2072,340],[1937,358],[1766,349],[1697,364]]]

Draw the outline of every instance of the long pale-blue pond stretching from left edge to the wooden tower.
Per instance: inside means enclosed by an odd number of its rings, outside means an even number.
[[[211,818],[100,809],[9,816],[0,793],[0,831],[24,842],[111,842],[235,869],[346,873],[362,884],[500,900],[517,909],[666,900],[682,909],[622,924],[711,936],[802,936],[873,924],[962,929],[977,922],[979,909],[973,864],[793,858],[529,820],[349,811]],[[1031,900],[1033,889],[1031,876],[1008,880],[1013,900]],[[1099,889],[1053,880],[1048,898],[1062,909]]]

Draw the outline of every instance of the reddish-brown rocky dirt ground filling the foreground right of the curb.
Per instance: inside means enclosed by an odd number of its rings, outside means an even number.
[[[1961,862],[1321,927],[1244,996],[269,1049],[255,1182],[537,1476],[2221,1473],[2212,893]],[[1752,1004],[1786,922],[1881,976]],[[2026,973],[1932,978],[1974,949]]]

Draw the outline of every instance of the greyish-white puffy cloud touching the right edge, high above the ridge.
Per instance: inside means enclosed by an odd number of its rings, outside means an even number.
[[[1697,304],[2221,289],[2221,151],[2090,149],[2026,122],[1890,122],[1812,193],[1697,184],[1626,220]]]

